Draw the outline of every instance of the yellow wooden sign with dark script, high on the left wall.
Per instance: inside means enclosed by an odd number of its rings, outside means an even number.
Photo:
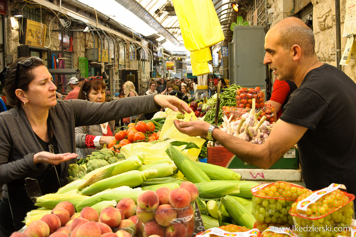
[[[37,21],[27,20],[26,24],[26,45],[43,47],[46,40],[46,24]]]

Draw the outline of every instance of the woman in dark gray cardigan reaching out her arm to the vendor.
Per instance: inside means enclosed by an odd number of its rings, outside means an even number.
[[[57,87],[38,57],[19,58],[0,74],[7,103],[0,113],[0,236],[19,230],[37,196],[65,184],[75,163],[74,129],[147,113],[159,107],[190,112],[174,96],[128,97],[108,103],[56,101]]]

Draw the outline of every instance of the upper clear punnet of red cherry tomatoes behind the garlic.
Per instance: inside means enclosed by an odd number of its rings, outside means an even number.
[[[236,90],[236,105],[238,108],[251,108],[252,99],[256,99],[256,109],[263,108],[265,106],[265,90],[261,90],[260,87],[253,88],[240,88]]]

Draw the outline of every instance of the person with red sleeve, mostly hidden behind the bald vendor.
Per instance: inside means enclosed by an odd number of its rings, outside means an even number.
[[[271,98],[265,104],[271,104],[276,108],[277,119],[281,117],[283,107],[288,103],[289,96],[295,89],[297,89],[297,85],[292,81],[279,81],[278,79],[274,81]]]

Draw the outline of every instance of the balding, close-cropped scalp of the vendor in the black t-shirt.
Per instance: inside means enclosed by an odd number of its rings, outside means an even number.
[[[288,50],[293,45],[299,45],[304,55],[311,57],[315,55],[315,39],[313,30],[296,17],[287,17],[274,25],[271,30],[277,34],[277,43]]]

